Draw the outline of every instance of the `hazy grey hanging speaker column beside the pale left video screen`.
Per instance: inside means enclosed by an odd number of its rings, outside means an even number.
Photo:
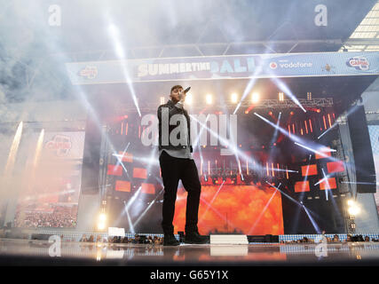
[[[84,139],[82,193],[99,193],[99,160],[101,146],[101,130],[99,125],[91,118],[87,118]]]

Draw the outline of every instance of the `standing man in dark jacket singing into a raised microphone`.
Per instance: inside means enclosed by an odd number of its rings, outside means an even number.
[[[174,236],[172,221],[177,200],[178,182],[182,181],[188,195],[186,202],[186,243],[207,243],[208,239],[201,236],[198,231],[198,212],[201,194],[201,184],[195,162],[193,161],[193,147],[191,146],[190,117],[183,107],[186,92],[183,87],[175,85],[171,88],[169,101],[158,107],[159,120],[159,162],[161,165],[164,185],[162,229],[164,233],[164,246],[178,246],[179,242]],[[170,125],[170,118],[178,114],[176,125]],[[165,123],[165,124],[164,124]],[[163,127],[163,130],[162,130]],[[165,137],[164,127],[168,127],[169,137]],[[180,138],[173,140],[170,136],[172,130],[179,128]],[[175,130],[177,132],[177,130]],[[175,132],[173,133],[175,134]],[[180,141],[180,143],[176,143]],[[174,143],[172,143],[174,142]]]

